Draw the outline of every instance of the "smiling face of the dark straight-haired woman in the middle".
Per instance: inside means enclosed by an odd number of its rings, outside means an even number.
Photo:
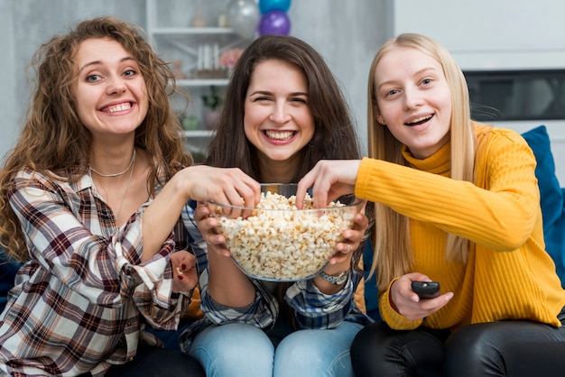
[[[244,129],[262,165],[298,160],[315,130],[300,69],[282,60],[255,66],[245,96]]]

